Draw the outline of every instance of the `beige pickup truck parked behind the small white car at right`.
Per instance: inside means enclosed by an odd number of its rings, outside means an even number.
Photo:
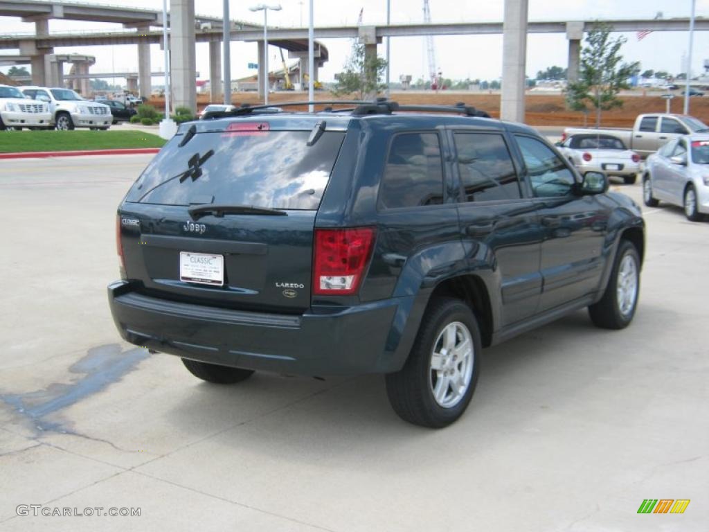
[[[613,135],[622,140],[628,150],[633,150],[641,157],[647,157],[659,150],[664,143],[681,135],[706,132],[709,132],[709,126],[693,116],[649,113],[638,115],[632,129],[566,128],[562,135],[562,142],[577,133]]]

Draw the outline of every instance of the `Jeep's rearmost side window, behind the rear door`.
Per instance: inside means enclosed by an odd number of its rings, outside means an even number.
[[[402,133],[389,148],[379,209],[443,203],[443,161],[437,133]]]

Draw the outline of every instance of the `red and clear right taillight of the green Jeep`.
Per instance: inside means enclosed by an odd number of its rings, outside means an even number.
[[[372,227],[316,229],[313,294],[356,294],[372,255],[375,233]]]

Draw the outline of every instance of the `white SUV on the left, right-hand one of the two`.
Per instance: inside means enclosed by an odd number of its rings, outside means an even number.
[[[108,129],[113,118],[107,105],[84,100],[63,87],[19,87],[30,98],[49,105],[52,124],[60,130],[74,128]]]

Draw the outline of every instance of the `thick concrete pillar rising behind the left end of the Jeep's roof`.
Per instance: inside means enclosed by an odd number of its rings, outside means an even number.
[[[194,0],[170,0],[170,71],[175,107],[197,111]]]

